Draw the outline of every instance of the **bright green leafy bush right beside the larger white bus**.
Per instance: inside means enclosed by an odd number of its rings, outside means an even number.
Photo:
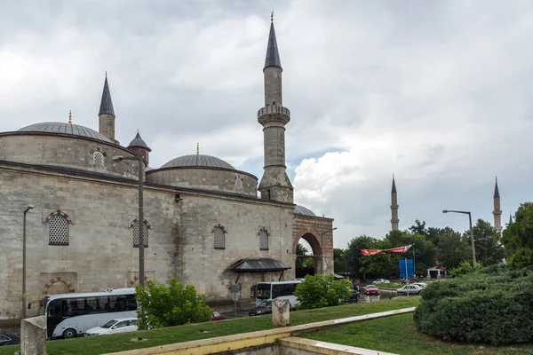
[[[205,304],[205,295],[197,295],[193,285],[177,280],[168,286],[147,281],[147,289],[135,288],[139,329],[172,327],[211,319],[211,307]]]

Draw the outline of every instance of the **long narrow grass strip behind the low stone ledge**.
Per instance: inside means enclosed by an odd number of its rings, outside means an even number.
[[[313,323],[328,319],[346,318],[398,310],[416,306],[419,297],[405,297],[364,304],[346,304],[338,307],[317,310],[290,312],[290,325]],[[190,324],[180,327],[167,327],[121,335],[103,335],[49,342],[49,355],[92,355],[106,352],[126,351],[169,343],[182,343],[192,340],[206,339],[223,335],[248,333],[258,330],[272,329],[271,316],[249,317],[242,319]],[[132,343],[131,338],[141,336],[146,342]],[[12,355],[20,346],[0,348],[0,355]]]

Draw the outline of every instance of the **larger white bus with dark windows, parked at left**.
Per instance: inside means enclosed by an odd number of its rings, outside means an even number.
[[[39,314],[46,319],[46,338],[74,338],[116,318],[137,317],[135,288],[45,296]]]

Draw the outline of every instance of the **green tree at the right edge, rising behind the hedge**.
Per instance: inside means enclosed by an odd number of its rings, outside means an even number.
[[[533,264],[533,203],[524,202],[507,225],[502,237],[507,263],[513,268]]]

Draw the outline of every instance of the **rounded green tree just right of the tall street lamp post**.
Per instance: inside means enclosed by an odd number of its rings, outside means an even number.
[[[505,249],[500,244],[496,229],[482,219],[478,219],[472,228],[475,242],[475,259],[485,266],[501,264],[505,258]],[[470,232],[465,232],[465,239],[470,243]]]

